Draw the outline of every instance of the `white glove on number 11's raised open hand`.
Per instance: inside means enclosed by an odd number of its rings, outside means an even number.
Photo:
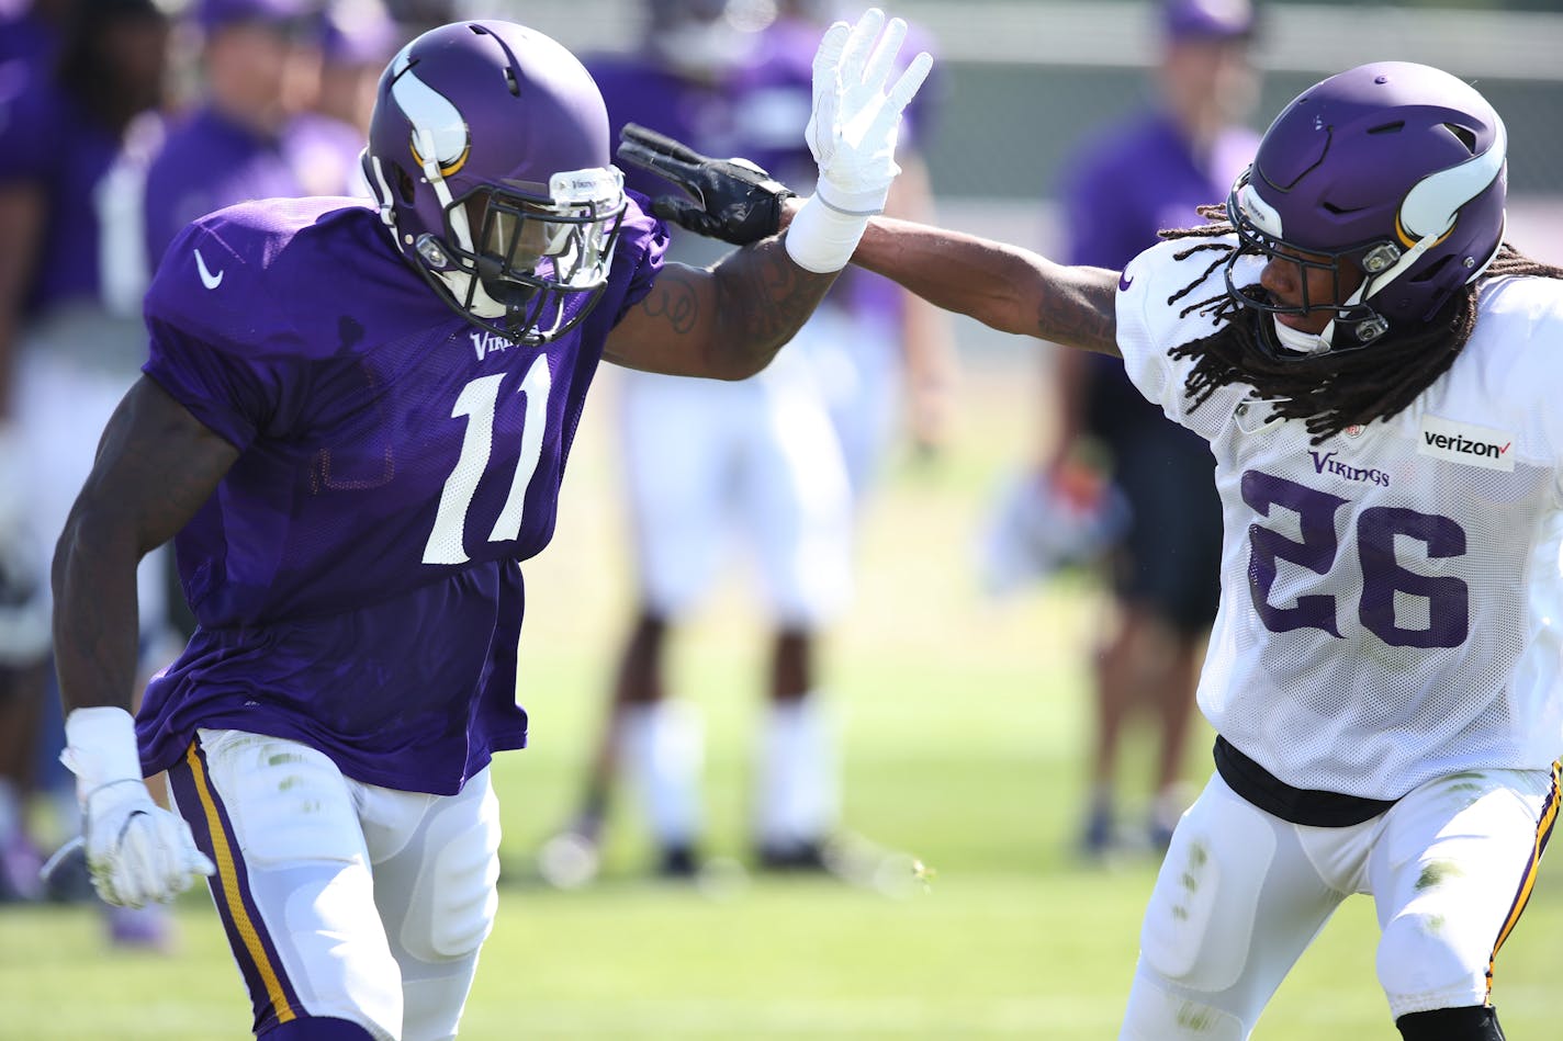
[[[883,34],[880,33],[883,30]],[[869,8],[857,25],[836,22],[814,53],[814,106],[803,131],[819,164],[814,194],[788,228],[786,252],[803,270],[841,270],[869,217],[885,209],[896,166],[896,131],[933,58],[917,55],[885,89],[907,23]]]

